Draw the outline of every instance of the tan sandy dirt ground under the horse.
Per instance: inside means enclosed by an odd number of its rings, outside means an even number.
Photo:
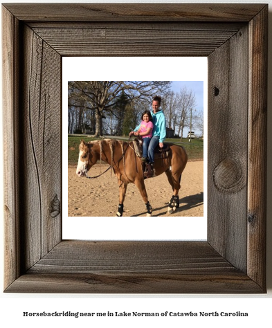
[[[109,165],[97,163],[89,171],[90,176],[104,172]],[[69,217],[115,217],[118,208],[119,188],[111,170],[97,179],[79,178],[75,166],[68,167],[68,216]],[[168,217],[167,203],[172,188],[167,176],[161,174],[145,180],[153,216]],[[188,162],[181,178],[179,208],[171,216],[203,217],[203,161]],[[129,183],[124,203],[123,217],[145,217],[146,209],[136,186]]]

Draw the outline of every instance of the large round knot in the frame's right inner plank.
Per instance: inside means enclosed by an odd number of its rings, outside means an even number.
[[[235,193],[246,185],[241,163],[233,158],[225,158],[213,171],[216,188],[221,192]]]

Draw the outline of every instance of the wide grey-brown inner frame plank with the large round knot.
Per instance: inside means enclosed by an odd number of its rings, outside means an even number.
[[[242,28],[208,57],[208,241],[244,273],[247,253],[247,48],[248,33]],[[224,66],[218,64],[223,62]]]

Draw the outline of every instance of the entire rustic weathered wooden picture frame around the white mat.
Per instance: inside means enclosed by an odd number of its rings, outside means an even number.
[[[266,4],[6,3],[10,293],[265,293]],[[156,48],[156,51],[154,51]],[[62,56],[208,57],[207,242],[62,240]]]

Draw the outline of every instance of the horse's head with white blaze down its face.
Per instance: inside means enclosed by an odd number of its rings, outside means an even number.
[[[98,161],[98,156],[93,152],[93,145],[85,143],[84,140],[80,143],[80,154],[78,156],[78,167],[76,174],[78,176],[86,176],[90,168]]]

